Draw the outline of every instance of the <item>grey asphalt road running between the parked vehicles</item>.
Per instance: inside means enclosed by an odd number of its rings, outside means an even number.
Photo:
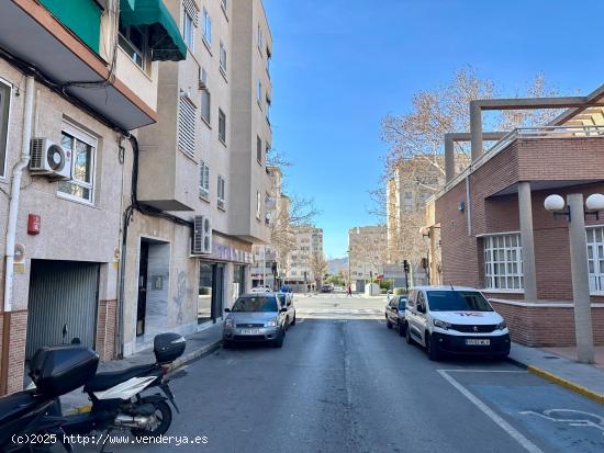
[[[219,350],[177,373],[169,434],[206,443],[108,451],[604,451],[595,403],[507,362],[430,362],[385,328],[382,301],[295,303],[282,349]]]

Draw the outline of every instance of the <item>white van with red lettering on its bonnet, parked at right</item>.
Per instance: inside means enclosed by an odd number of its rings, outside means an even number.
[[[418,286],[405,307],[406,341],[426,349],[430,360],[443,354],[510,354],[510,331],[482,293],[472,287]]]

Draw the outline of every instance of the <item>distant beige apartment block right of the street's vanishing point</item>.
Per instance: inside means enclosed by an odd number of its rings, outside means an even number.
[[[350,282],[356,291],[365,290],[365,282],[378,276],[387,260],[387,226],[371,225],[348,230]]]

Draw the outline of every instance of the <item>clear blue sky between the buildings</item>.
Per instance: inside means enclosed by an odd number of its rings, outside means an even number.
[[[346,254],[348,228],[377,222],[368,209],[387,150],[380,118],[406,112],[416,91],[466,65],[504,94],[541,71],[562,92],[604,83],[602,0],[264,1],[272,146],[293,162],[287,191],[322,211],[327,258]]]

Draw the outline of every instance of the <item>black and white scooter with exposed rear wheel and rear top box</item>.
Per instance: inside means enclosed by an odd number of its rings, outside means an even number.
[[[57,398],[49,412],[42,417],[43,426],[40,431],[87,435],[92,432],[109,433],[114,429],[130,429],[137,438],[163,435],[172,420],[172,411],[166,401],[179,411],[166,374],[169,365],[182,355],[184,347],[186,340],[180,335],[156,336],[155,363],[97,373],[83,386],[83,392],[92,403],[90,411],[64,415]],[[164,395],[142,395],[153,387],[158,387]],[[69,448],[67,450],[70,451]]]

